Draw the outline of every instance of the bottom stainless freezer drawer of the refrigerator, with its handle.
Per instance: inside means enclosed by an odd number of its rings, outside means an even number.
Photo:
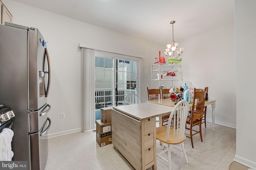
[[[38,133],[30,134],[30,170],[44,170],[48,157],[48,129],[51,119],[47,117]]]

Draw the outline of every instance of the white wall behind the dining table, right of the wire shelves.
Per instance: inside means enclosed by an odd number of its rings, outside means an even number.
[[[209,87],[216,99],[215,123],[236,128],[236,60],[234,23],[180,42],[182,74],[195,88]],[[208,106],[206,118],[212,120]]]

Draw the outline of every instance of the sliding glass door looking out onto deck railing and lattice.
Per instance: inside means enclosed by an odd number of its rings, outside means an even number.
[[[100,119],[100,108],[123,105],[129,93],[138,92],[139,60],[112,53],[95,53],[95,111]]]

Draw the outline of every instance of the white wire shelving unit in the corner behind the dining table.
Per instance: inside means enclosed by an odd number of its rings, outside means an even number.
[[[178,70],[181,65],[152,64],[151,65],[151,88],[159,88],[162,85],[178,85]],[[167,76],[168,72],[174,72],[175,76]],[[159,74],[159,76],[157,76]],[[160,75],[163,75],[161,78]],[[174,82],[176,82],[174,84]],[[169,88],[169,87],[166,87]]]

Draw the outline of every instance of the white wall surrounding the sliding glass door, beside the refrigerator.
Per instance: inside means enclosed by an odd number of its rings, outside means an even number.
[[[13,23],[38,28],[48,41],[47,47],[52,67],[52,82],[48,98],[48,103],[52,106],[49,113],[52,119],[50,136],[80,131],[79,43],[110,52],[152,56],[153,59],[158,55],[159,45],[154,43],[12,0],[3,0],[3,2],[13,15]],[[146,59],[142,59],[142,63],[144,60]],[[141,69],[142,77],[148,74],[143,67]],[[144,85],[142,85],[143,88],[145,88]],[[143,90],[143,92],[142,95],[146,96],[146,91]],[[66,113],[65,119],[60,119],[62,112]]]

